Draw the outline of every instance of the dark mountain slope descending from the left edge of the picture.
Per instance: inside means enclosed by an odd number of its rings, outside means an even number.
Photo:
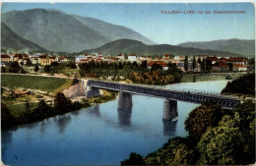
[[[1,24],[1,48],[47,52],[44,48],[22,38],[3,23]]]

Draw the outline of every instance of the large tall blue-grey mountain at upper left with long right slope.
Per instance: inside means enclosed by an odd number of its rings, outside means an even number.
[[[131,36],[146,43],[151,42],[130,28],[57,10],[11,11],[1,17],[2,23],[18,35],[49,51],[78,52],[99,47],[118,37]]]

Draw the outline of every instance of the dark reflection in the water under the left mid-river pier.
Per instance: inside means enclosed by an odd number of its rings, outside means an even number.
[[[117,109],[117,113],[118,113],[118,123],[121,126],[131,125],[132,107],[127,109]]]

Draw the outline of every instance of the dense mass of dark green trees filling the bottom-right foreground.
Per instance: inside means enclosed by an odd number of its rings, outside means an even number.
[[[255,105],[251,101],[233,110],[208,102],[185,121],[187,138],[170,138],[147,155],[135,152],[121,165],[240,165],[255,163]]]

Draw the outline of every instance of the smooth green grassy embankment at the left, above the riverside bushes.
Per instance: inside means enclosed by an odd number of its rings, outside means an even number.
[[[70,86],[72,80],[28,75],[2,75],[1,83],[11,88],[24,87],[56,93]]]

